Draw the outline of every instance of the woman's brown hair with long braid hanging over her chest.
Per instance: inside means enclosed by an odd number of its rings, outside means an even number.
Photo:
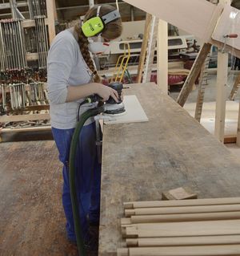
[[[114,6],[110,5],[102,5],[100,9],[99,16],[102,17],[105,14],[110,13],[111,11],[115,10]],[[97,10],[98,6],[92,7],[90,10],[87,11],[84,22],[86,20],[93,18],[97,16]],[[99,83],[101,81],[100,77],[98,76],[98,73],[94,67],[94,62],[93,59],[90,56],[90,52],[88,50],[88,39],[86,36],[82,33],[82,28],[81,24],[78,23],[77,25],[74,26],[74,30],[78,34],[78,44],[80,47],[80,51],[82,52],[82,57],[86,61],[87,66],[90,68],[90,70],[94,74],[94,82]],[[114,20],[113,22],[110,22],[106,24],[104,30],[102,31],[102,37],[104,39],[112,40],[118,38],[122,34],[122,20],[121,18],[118,18]]]

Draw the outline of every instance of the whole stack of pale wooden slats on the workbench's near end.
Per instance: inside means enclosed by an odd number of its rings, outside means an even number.
[[[240,197],[124,203],[118,256],[240,255]]]

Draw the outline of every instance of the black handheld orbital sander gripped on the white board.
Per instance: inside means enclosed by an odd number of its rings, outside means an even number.
[[[116,115],[126,112],[121,99],[123,89],[122,83],[110,83],[108,87],[111,87],[115,91],[118,91],[118,102],[116,102],[112,97],[110,97],[109,100],[106,100],[106,103],[104,104],[104,113]]]

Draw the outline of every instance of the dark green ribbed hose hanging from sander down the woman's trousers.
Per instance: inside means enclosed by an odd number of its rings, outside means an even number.
[[[78,197],[76,193],[76,185],[75,185],[75,159],[77,153],[79,135],[82,130],[83,125],[85,124],[86,120],[89,119],[91,116],[97,116],[99,113],[103,112],[102,108],[94,108],[84,112],[80,118],[80,121],[77,123],[76,128],[74,130],[74,135],[71,140],[70,145],[70,162],[69,162],[69,180],[70,180],[70,196],[72,202],[72,209],[74,215],[74,230],[77,238],[78,244],[78,254],[81,256],[86,256],[86,250],[84,247],[84,242],[82,239],[82,230],[81,230],[81,221],[78,212]]]

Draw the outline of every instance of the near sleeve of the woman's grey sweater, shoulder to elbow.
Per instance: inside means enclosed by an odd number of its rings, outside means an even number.
[[[50,47],[47,57],[47,90],[52,104],[66,102],[70,71],[76,63],[76,46],[69,38],[62,37]]]

